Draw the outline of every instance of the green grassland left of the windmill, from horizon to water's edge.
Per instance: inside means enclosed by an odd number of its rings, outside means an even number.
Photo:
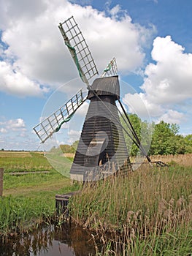
[[[77,190],[69,178],[51,167],[39,153],[0,153],[1,167],[4,167],[4,190],[0,197],[0,236],[20,233],[39,222],[50,221],[55,213],[55,194]],[[65,162],[65,159],[64,159]],[[69,165],[67,165],[69,169]],[[48,173],[23,173],[49,170]],[[68,170],[69,171],[69,170]]]

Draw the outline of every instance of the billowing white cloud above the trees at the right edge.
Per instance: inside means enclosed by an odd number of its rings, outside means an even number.
[[[151,52],[154,63],[145,68],[142,92],[124,97],[134,106],[129,107],[131,113],[143,116],[147,108],[155,121],[175,124],[185,121],[186,111],[182,113],[179,108],[184,108],[186,100],[192,97],[192,54],[184,50],[170,36],[154,39]]]

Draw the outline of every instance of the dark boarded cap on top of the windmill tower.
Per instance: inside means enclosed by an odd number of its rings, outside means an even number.
[[[115,96],[115,99],[118,99],[120,97],[118,75],[107,78],[96,78],[96,80],[93,81],[91,89],[93,89],[98,96]],[[88,99],[95,97],[93,91],[88,91]]]

